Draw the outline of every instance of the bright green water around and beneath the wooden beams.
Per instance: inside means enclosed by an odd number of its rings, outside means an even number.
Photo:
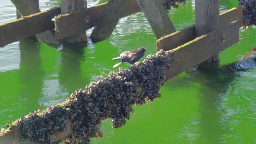
[[[15,20],[13,4],[0,2],[0,23]],[[98,2],[88,0],[88,7]],[[39,3],[47,10],[60,1]],[[168,13],[177,30],[194,24],[194,4]],[[236,6],[237,1],[220,0],[220,12]],[[255,40],[255,26],[240,29],[240,42],[220,53],[219,67],[202,64],[174,77],[160,89],[161,98],[133,107],[136,113],[123,127],[112,129],[106,119],[104,136],[91,143],[256,143],[256,64],[245,58]],[[145,55],[155,53],[155,42],[146,17],[137,13],[121,19],[111,37],[99,43],[89,38],[85,44],[48,45],[30,38],[0,48],[0,127],[39,105],[60,103],[99,75],[106,77],[118,69],[112,68],[117,63],[112,58],[123,51],[144,46]]]

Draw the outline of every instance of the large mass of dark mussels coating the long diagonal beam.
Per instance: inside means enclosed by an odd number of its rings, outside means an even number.
[[[65,101],[46,110],[31,112],[13,122],[20,129],[20,137],[42,143],[54,142],[57,135],[72,132],[65,143],[90,143],[90,137],[102,137],[103,119],[112,118],[112,127],[126,123],[133,113],[132,105],[142,105],[161,97],[159,89],[164,83],[164,69],[171,63],[167,52],[149,55],[143,62],[130,68],[119,68],[103,78],[97,77],[84,89],[77,89]]]

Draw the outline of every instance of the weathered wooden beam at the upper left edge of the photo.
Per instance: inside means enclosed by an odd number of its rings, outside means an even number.
[[[60,8],[54,8],[3,23],[0,25],[0,47],[54,29],[54,22],[51,19],[59,14]]]

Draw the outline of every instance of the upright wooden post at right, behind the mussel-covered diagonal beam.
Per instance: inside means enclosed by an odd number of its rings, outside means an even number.
[[[197,37],[219,28],[219,0],[195,1],[195,29]],[[206,62],[219,61],[219,53]]]

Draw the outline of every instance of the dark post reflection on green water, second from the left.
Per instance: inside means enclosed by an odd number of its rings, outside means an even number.
[[[85,83],[89,81],[84,79],[80,65],[84,59],[85,46],[85,43],[63,44],[58,73],[59,82],[68,93],[72,93],[77,88],[84,88]]]

